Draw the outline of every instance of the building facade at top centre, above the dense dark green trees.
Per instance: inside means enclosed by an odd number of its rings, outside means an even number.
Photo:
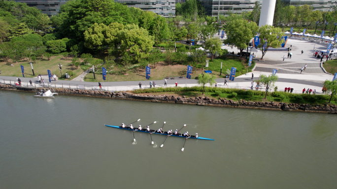
[[[175,15],[175,0],[115,0],[115,2],[152,11],[164,17]]]

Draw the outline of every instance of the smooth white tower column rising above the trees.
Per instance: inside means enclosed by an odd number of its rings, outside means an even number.
[[[274,19],[274,11],[275,11],[276,0],[263,0],[261,7],[261,15],[259,27],[264,25],[271,25]]]

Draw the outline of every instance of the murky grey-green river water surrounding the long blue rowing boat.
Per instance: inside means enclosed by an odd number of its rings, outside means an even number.
[[[336,189],[337,116],[0,91],[1,189]],[[131,123],[214,141],[133,133]]]

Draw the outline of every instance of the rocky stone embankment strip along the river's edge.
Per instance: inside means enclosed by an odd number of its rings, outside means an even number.
[[[219,98],[218,100],[209,99],[208,97],[194,97],[185,98],[174,96],[157,96],[157,95],[137,95],[129,92],[108,92],[99,90],[82,90],[82,89],[65,89],[65,88],[32,88],[32,87],[20,87],[10,84],[0,84],[2,90],[15,90],[15,91],[27,91],[34,92],[41,89],[48,90],[62,94],[62,95],[74,95],[74,96],[88,96],[99,98],[111,98],[111,99],[125,99],[125,100],[138,100],[157,103],[175,103],[175,104],[187,104],[187,105],[200,105],[200,106],[216,106],[216,107],[231,107],[231,108],[253,108],[253,109],[272,109],[272,110],[289,110],[289,111],[305,111],[305,112],[317,112],[317,113],[337,113],[336,105],[309,105],[309,104],[296,104],[296,103],[274,103],[274,102],[248,102],[240,100],[235,102],[231,99]]]

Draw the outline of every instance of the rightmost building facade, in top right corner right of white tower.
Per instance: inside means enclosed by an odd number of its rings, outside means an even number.
[[[337,0],[282,0],[286,5],[301,6],[307,4],[312,10],[331,11],[337,5]]]

